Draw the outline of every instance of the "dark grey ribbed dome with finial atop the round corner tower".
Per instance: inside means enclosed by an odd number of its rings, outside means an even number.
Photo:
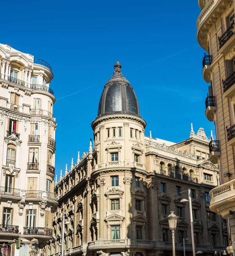
[[[140,116],[139,103],[132,86],[121,72],[119,61],[114,65],[113,76],[105,84],[99,100],[98,116],[128,113]]]

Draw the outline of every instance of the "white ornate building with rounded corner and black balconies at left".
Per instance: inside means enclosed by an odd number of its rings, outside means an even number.
[[[7,255],[37,255],[52,238],[55,97],[51,66],[0,44],[0,247]],[[5,254],[4,254],[5,255]]]

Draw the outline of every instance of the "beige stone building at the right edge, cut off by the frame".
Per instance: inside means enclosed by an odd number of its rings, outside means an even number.
[[[235,27],[232,0],[198,0],[198,43],[208,51],[202,75],[209,86],[205,114],[213,121],[216,141],[210,160],[218,163],[221,185],[210,192],[210,209],[230,223],[227,251],[235,255]]]

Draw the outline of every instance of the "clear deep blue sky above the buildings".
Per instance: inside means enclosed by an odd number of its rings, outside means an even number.
[[[197,0],[12,0],[2,9],[0,43],[51,64],[57,174],[77,151],[88,151],[117,60],[139,99],[146,135],[179,142],[189,137],[191,122],[207,137],[214,131],[204,115],[209,84],[201,76]]]

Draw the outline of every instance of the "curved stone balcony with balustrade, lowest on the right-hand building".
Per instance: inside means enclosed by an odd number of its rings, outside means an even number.
[[[229,210],[235,211],[235,180],[230,180],[210,191],[210,210],[227,218]],[[232,206],[234,205],[234,206]]]

